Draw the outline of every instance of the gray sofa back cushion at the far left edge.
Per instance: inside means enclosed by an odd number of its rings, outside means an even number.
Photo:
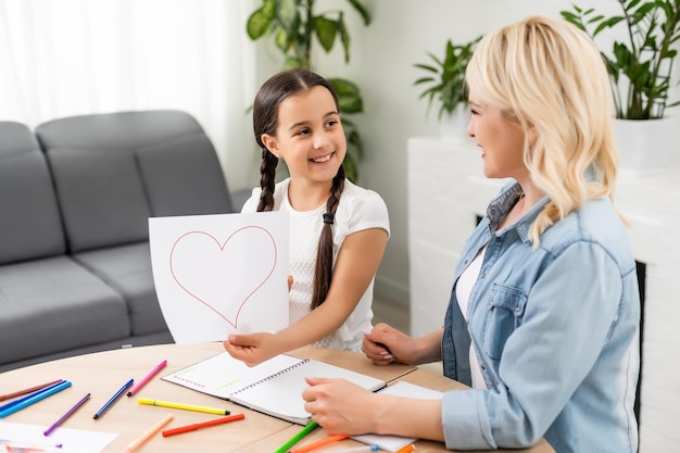
[[[0,264],[64,253],[45,155],[20,123],[0,122]]]

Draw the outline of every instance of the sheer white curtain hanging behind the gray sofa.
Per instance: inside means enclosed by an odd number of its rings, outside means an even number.
[[[230,189],[252,186],[252,1],[0,0],[0,119],[178,109],[217,149]]]

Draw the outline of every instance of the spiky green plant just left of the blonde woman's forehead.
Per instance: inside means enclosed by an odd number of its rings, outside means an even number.
[[[439,104],[437,119],[441,123],[445,116],[461,116],[467,108],[467,92],[465,90],[465,68],[473,56],[475,46],[481,36],[469,42],[455,45],[451,39],[446,41],[443,58],[427,52],[431,63],[416,63],[415,67],[427,73],[417,78],[413,85],[423,86],[418,99],[426,99],[428,112],[432,104]],[[464,121],[464,119],[463,119]],[[457,129],[463,126],[456,126]]]

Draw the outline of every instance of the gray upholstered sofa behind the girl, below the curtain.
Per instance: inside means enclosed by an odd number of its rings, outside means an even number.
[[[185,112],[60,118],[35,134],[0,122],[0,372],[172,342],[148,218],[229,212],[215,150]]]

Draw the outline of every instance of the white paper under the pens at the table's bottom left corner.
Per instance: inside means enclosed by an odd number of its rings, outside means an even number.
[[[59,427],[46,437],[42,435],[48,426],[0,421],[0,451],[12,445],[36,448],[47,452],[98,453],[118,436],[116,432]]]

